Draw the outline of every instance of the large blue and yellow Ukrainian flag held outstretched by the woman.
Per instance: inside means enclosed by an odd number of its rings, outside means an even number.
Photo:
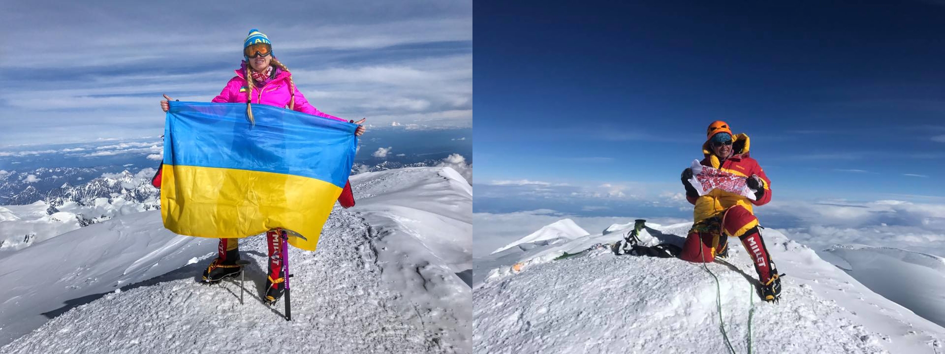
[[[181,235],[242,238],[286,228],[315,250],[351,173],[356,125],[238,103],[170,102],[161,216]],[[298,235],[301,235],[299,237]]]

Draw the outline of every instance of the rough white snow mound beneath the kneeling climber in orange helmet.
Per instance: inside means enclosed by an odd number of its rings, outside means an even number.
[[[644,244],[681,245],[691,224],[647,227]],[[756,275],[737,239],[730,240],[735,242],[730,264],[707,264],[719,279],[722,318],[736,352],[747,352],[751,309],[754,352],[941,351],[942,327],[873,293],[781,232],[765,229],[764,235],[772,259],[787,274],[779,304],[764,303],[754,293],[750,284]],[[622,237],[589,235],[522,251],[517,258],[476,260],[476,352],[728,352],[719,329],[716,283],[706,269],[594,247]],[[487,276],[480,278],[479,272]]]

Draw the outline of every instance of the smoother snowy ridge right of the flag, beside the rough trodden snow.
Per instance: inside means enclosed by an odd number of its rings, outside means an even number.
[[[472,352],[472,186],[450,167],[352,177],[354,208],[374,228],[382,278],[411,302],[450,350]],[[382,194],[383,193],[383,194]],[[353,210],[353,209],[352,209]]]

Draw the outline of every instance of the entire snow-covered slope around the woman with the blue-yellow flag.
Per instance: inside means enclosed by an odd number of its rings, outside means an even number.
[[[160,212],[145,211],[34,244],[16,252],[17,261],[0,261],[0,289],[22,283],[6,295],[24,294],[0,303],[0,332],[8,338],[35,328],[19,318],[56,310],[63,301],[71,307],[0,352],[472,352],[465,325],[471,289],[455,274],[471,262],[468,251],[462,256],[472,244],[468,183],[446,167],[351,181],[358,205],[332,212],[318,251],[289,251],[291,322],[282,317],[282,301],[270,308],[259,299],[266,279],[263,237],[240,242],[251,261],[240,305],[238,279],[199,284],[216,240],[168,235]],[[41,274],[48,281],[26,281]],[[126,278],[120,292],[73,297],[113,290]],[[69,293],[88,281],[94,290]]]

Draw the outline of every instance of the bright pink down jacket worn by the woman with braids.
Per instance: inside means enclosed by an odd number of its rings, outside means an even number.
[[[275,70],[276,76],[263,83],[262,88],[253,87],[250,89],[252,90],[252,103],[262,103],[264,105],[288,109],[289,100],[292,99],[292,95],[289,93],[289,76],[292,76],[292,74],[283,71],[280,68],[275,68]],[[216,95],[216,97],[214,97],[211,102],[246,103],[247,87],[246,76],[244,76],[244,73],[246,73],[246,61],[243,61],[243,65],[241,65],[239,69],[236,69],[235,72],[236,76],[233,76],[233,78],[230,79],[230,82],[227,82],[227,86],[224,87],[223,91]],[[293,89],[295,90],[296,97],[296,111],[334,119],[337,121],[348,122],[345,119],[341,119],[335,117],[334,115],[317,110],[312,106],[312,104],[308,103],[308,100],[305,99],[305,96],[299,92],[298,86],[294,86]]]

